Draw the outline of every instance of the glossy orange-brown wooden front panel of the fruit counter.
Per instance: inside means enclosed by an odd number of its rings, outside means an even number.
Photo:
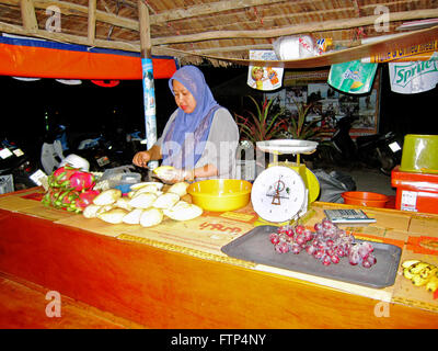
[[[87,220],[73,227],[62,219],[77,215],[35,214],[34,200],[23,194],[0,196],[0,271],[147,328],[438,328],[438,310],[429,306],[367,297],[211,252],[124,240],[88,230]],[[376,212],[399,218],[391,233],[413,222],[411,214]]]

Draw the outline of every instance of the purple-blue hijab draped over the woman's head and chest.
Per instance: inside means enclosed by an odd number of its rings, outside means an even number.
[[[174,79],[192,93],[196,100],[196,107],[192,113],[185,113],[177,109],[176,117],[163,138],[163,165],[194,168],[204,151],[205,143],[203,141],[208,138],[215,115],[214,111],[219,107],[219,104],[212,97],[203,72],[197,67],[184,66],[172,76],[169,80],[172,94]],[[173,141],[173,145],[176,143],[180,149],[168,148],[169,141]],[[187,152],[191,154],[188,157]]]

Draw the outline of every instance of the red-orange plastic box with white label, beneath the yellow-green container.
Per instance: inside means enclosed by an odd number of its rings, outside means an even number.
[[[396,188],[396,210],[438,213],[438,174],[403,172],[395,167],[391,185]]]

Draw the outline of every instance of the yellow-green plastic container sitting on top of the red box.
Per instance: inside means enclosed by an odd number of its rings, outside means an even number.
[[[400,170],[438,173],[438,135],[405,135]]]

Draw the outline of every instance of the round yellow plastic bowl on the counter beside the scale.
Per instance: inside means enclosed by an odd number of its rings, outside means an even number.
[[[212,212],[234,211],[247,205],[253,184],[240,179],[208,179],[192,183],[192,202]]]

